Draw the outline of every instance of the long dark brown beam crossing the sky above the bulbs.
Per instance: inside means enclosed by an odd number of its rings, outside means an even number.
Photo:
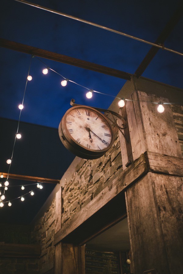
[[[0,46],[3,47],[3,48],[9,48],[9,49],[12,49],[12,50],[16,50],[16,51],[19,51],[19,52],[24,52],[24,53],[27,53],[27,54],[39,56],[39,57],[42,57],[42,58],[50,59],[50,60],[61,62],[61,63],[64,63],[64,64],[77,66],[77,67],[80,67],[80,68],[83,68],[83,69],[89,69],[89,70],[93,70],[93,71],[96,71],[96,72],[99,72],[99,73],[108,74],[110,76],[122,78],[122,79],[125,79],[125,80],[130,80],[130,77],[132,76],[131,73],[127,73],[127,72],[120,71],[120,70],[117,70],[117,69],[112,69],[112,68],[109,68],[109,67],[106,67],[106,66],[97,65],[95,63],[83,61],[81,59],[76,59],[76,58],[69,57],[69,56],[66,56],[66,55],[62,55],[62,54],[59,54],[59,53],[49,52],[49,51],[44,50],[44,49],[31,47],[31,46],[28,46],[28,45],[16,43],[14,41],[5,40],[5,39],[2,39],[2,38],[0,38]]]

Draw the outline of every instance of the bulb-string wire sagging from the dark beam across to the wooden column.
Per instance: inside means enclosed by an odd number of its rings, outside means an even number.
[[[34,56],[34,57],[36,59],[38,59],[40,62],[42,62],[47,69],[50,69],[51,71],[55,72],[56,74],[58,74],[59,76],[61,76],[64,80],[67,80],[68,82],[71,82],[71,83],[76,84],[76,85],[78,85],[80,87],[83,87],[83,88],[85,88],[85,89],[87,89],[88,91],[91,91],[91,92],[95,92],[95,93],[99,93],[99,94],[102,94],[102,95],[110,96],[110,97],[113,97],[113,98],[116,98],[116,99],[119,99],[119,100],[131,101],[131,102],[133,102],[133,101],[140,101],[140,102],[151,103],[151,104],[156,104],[156,105],[159,105],[159,104],[162,104],[162,105],[172,105],[172,104],[181,105],[180,102],[153,102],[153,101],[144,101],[144,100],[137,100],[137,99],[120,98],[120,97],[117,97],[115,95],[107,94],[107,93],[100,92],[100,91],[95,91],[95,90],[92,90],[91,88],[85,87],[85,86],[83,86],[81,84],[78,84],[78,83],[76,83],[76,82],[74,82],[74,81],[72,81],[72,80],[64,77],[62,74],[58,73],[56,70],[54,70],[54,69],[50,68],[49,66],[47,66],[40,58],[38,58],[37,56]]]

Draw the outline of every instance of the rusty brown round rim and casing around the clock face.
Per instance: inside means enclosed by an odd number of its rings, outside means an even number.
[[[67,126],[66,126],[67,115],[70,113],[71,110],[81,109],[81,108],[88,109],[91,112],[95,112],[105,120],[105,123],[108,125],[108,127],[110,128],[111,133],[112,133],[111,142],[106,148],[101,149],[101,150],[93,150],[90,148],[86,148],[83,145],[77,143],[77,141],[72,137],[72,135],[68,131]],[[109,121],[107,120],[107,118],[101,112],[99,112],[98,110],[96,110],[92,107],[88,107],[85,105],[79,105],[79,106],[74,106],[74,107],[68,109],[66,111],[66,113],[64,114],[64,116],[59,124],[59,137],[60,137],[63,145],[69,151],[71,151],[72,153],[77,155],[78,157],[81,157],[84,159],[97,159],[97,158],[100,158],[101,156],[103,156],[112,147],[112,145],[114,143],[114,130],[113,130],[113,127],[111,126],[111,124],[109,123]]]

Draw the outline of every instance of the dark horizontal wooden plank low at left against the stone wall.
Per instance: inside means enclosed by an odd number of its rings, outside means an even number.
[[[40,245],[36,244],[0,244],[2,257],[38,258],[41,254]]]

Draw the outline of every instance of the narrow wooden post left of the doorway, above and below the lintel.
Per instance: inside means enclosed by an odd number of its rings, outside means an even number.
[[[56,227],[61,229],[62,187],[56,193]],[[55,274],[85,274],[84,246],[59,242],[55,246]]]

